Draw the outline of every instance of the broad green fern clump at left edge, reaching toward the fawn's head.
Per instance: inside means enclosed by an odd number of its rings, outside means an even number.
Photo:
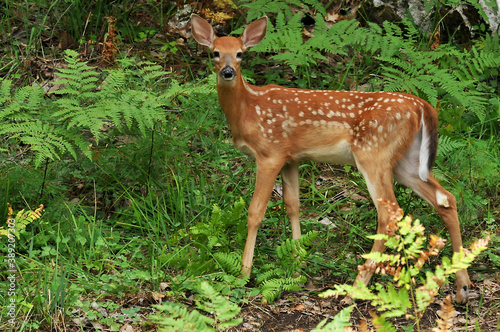
[[[146,136],[186,91],[175,81],[170,81],[171,88],[153,89],[167,73],[151,63],[124,61],[122,68],[99,73],[75,51],[66,51],[65,61],[53,99],[44,96],[42,88],[11,92],[11,81],[0,83],[0,134],[29,147],[35,166],[66,154],[91,159],[92,148],[126,129],[138,128]],[[206,90],[191,91],[197,89]]]

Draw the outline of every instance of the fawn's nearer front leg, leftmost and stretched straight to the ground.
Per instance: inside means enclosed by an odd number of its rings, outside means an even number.
[[[283,165],[283,162],[276,162],[272,159],[257,159],[257,180],[250,207],[248,208],[248,235],[243,251],[243,262],[241,273],[243,276],[250,276],[252,272],[252,261],[255,250],[255,241],[260,223],[264,218],[267,203],[271,198],[276,177]]]

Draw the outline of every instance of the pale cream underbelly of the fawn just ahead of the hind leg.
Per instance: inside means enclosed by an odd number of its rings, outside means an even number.
[[[356,164],[351,145],[344,140],[330,145],[308,147],[295,154],[294,157],[299,160],[313,160],[338,165]]]

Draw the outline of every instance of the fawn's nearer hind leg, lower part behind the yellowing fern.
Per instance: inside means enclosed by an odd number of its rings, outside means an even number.
[[[391,218],[391,211],[399,210],[399,205],[396,201],[396,196],[394,195],[392,174],[390,171],[388,171],[391,168],[388,165],[376,167],[372,165],[370,168],[365,168],[362,165],[370,165],[370,161],[368,161],[368,159],[366,163],[363,164],[360,164],[359,160],[356,161],[359,171],[365,178],[366,185],[368,187],[370,196],[372,197],[373,203],[377,208],[377,234],[388,234],[387,226],[388,221]],[[387,202],[389,204],[389,207],[387,207],[386,204],[382,203],[381,201]],[[375,240],[371,252],[383,252],[384,250],[385,241]],[[361,266],[354,284],[356,285],[358,281],[361,281],[364,284],[368,284],[374,272],[375,263],[372,260],[367,260],[365,264]]]

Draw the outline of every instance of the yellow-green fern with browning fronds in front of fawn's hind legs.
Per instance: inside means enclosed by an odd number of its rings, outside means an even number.
[[[401,211],[402,217],[402,211]],[[419,329],[419,321],[426,308],[434,301],[439,288],[453,273],[466,269],[472,261],[487,248],[489,237],[473,243],[470,252],[454,253],[453,259],[443,257],[442,265],[437,266],[435,272],[426,271],[425,277],[418,278],[421,269],[429,256],[437,256],[444,247],[445,241],[437,236],[431,236],[427,251],[424,245],[425,229],[418,220],[413,221],[411,216],[395,222],[398,231],[389,237],[385,234],[370,236],[371,239],[386,240],[386,245],[393,253],[369,253],[363,258],[377,263],[377,271],[389,274],[393,282],[385,285],[376,283],[370,289],[362,282],[357,285],[337,285],[335,290],[328,290],[320,294],[321,297],[345,296],[353,299],[368,300],[382,314],[374,315],[373,323],[384,331],[395,331],[388,318],[402,317],[413,319]],[[420,286],[416,285],[419,280]]]

